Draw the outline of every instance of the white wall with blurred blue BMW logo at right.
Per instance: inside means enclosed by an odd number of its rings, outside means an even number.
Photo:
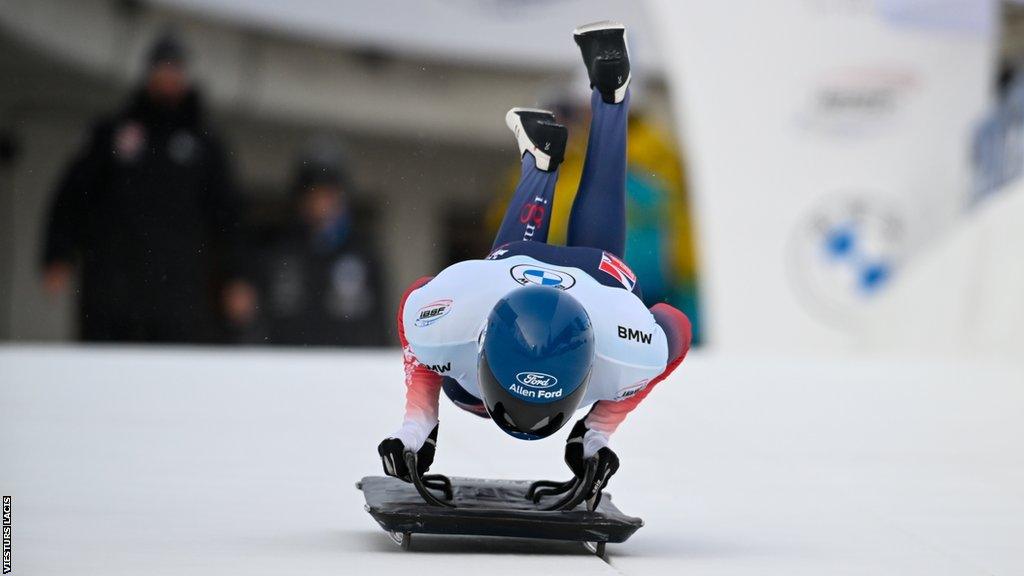
[[[966,202],[993,4],[650,5],[687,149],[709,342],[869,347],[868,304]]]

